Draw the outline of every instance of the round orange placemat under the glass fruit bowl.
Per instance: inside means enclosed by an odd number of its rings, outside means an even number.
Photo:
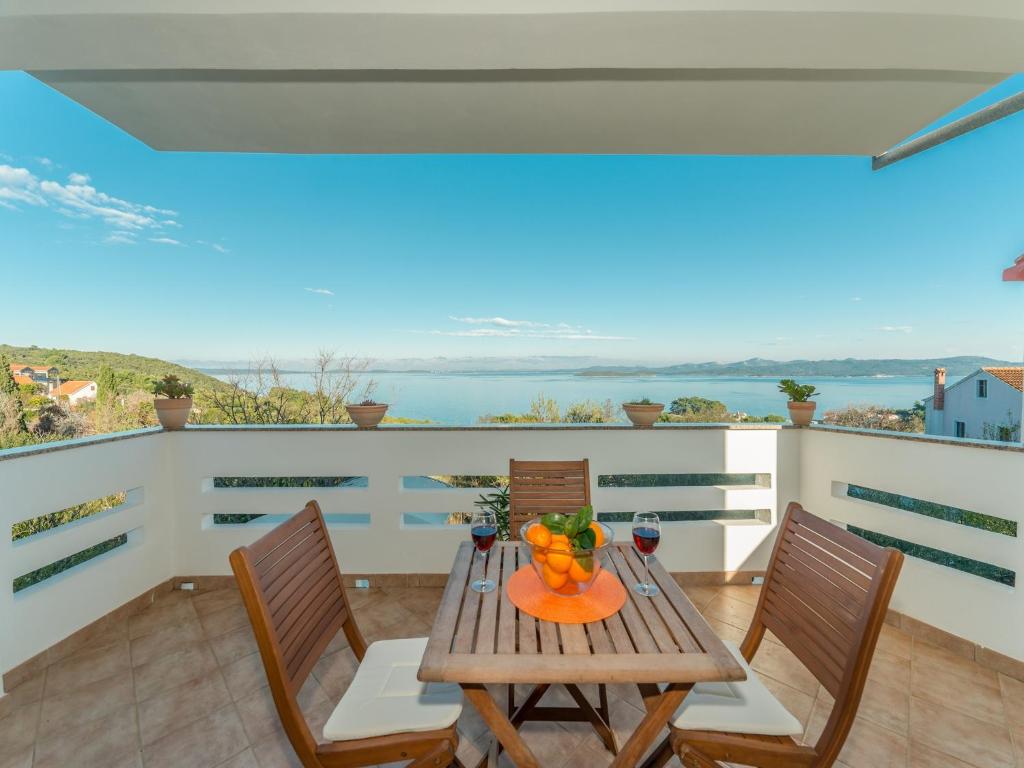
[[[519,610],[545,622],[600,622],[626,604],[623,583],[603,568],[594,580],[594,585],[577,597],[559,597],[548,592],[532,565],[524,565],[513,573],[506,589],[509,599]]]

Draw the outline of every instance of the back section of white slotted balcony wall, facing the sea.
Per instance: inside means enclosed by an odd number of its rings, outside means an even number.
[[[228,573],[227,555],[265,526],[211,527],[214,514],[294,512],[316,499],[326,515],[369,514],[365,526],[332,528],[342,568],[360,573],[446,572],[464,526],[403,523],[406,513],[471,512],[479,490],[411,489],[403,476],[508,474],[510,458],[590,460],[598,512],[764,509],[759,520],[667,523],[659,555],[672,570],[763,568],[781,477],[779,429],[520,428],[352,430],[214,429],[168,435],[176,466],[178,573]],[[791,470],[797,469],[795,464]],[[763,473],[770,486],[603,488],[602,474]],[[367,487],[213,488],[216,476],[365,476]],[[612,526],[620,539],[629,523]],[[767,543],[767,544],[766,544]]]

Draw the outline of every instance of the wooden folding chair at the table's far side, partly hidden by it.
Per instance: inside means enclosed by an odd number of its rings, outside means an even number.
[[[565,515],[575,513],[590,504],[590,461],[509,462],[509,529],[519,539],[522,525],[549,512]],[[611,752],[617,752],[615,736],[608,714],[608,692],[598,686],[595,708],[577,685],[566,684],[565,690],[577,707],[539,707],[548,685],[536,686],[525,701],[516,707],[515,686],[509,686],[508,712],[512,724],[518,727],[529,720],[589,722]]]

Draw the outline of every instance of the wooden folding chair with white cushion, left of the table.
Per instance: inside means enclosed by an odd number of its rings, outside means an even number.
[[[461,765],[455,757],[461,689],[416,680],[426,638],[367,646],[316,502],[255,544],[234,550],[230,562],[278,715],[303,766],[354,768],[396,761],[412,761],[410,768]],[[317,743],[297,696],[339,630],[359,669],[324,726],[328,742]]]

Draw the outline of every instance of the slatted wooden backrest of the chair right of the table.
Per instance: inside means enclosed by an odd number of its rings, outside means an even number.
[[[770,630],[835,697],[816,765],[831,765],[850,731],[902,564],[895,549],[786,509],[742,652],[750,660]]]

